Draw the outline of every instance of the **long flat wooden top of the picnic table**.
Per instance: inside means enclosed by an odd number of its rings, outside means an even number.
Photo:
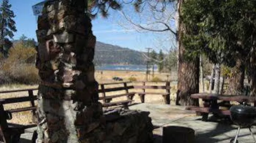
[[[238,96],[238,95],[228,95],[228,94],[220,94],[216,95],[213,93],[195,93],[190,96],[194,99],[206,99],[206,100],[223,100],[223,101],[238,101],[238,102],[255,102],[256,97],[249,96]]]

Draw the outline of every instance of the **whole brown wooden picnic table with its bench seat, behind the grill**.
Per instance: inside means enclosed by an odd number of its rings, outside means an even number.
[[[236,101],[239,104],[247,104],[256,106],[256,97],[238,96],[228,94],[212,94],[212,93],[196,93],[190,96],[193,99],[202,99],[203,107],[188,106],[186,109],[194,110],[197,113],[201,113],[202,121],[208,120],[208,114],[212,113],[218,116],[230,116],[230,107],[232,104],[230,101]],[[221,108],[225,107],[225,108]]]

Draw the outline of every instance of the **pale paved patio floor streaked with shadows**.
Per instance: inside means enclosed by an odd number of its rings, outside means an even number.
[[[186,126],[195,130],[196,143],[230,143],[236,133],[237,126],[224,122],[202,122],[194,112],[187,111],[184,107],[175,105],[142,103],[132,105],[130,109],[150,111],[152,123],[156,127],[153,131],[155,143],[161,143],[163,126]],[[26,130],[22,135],[21,143],[30,143],[33,128]],[[256,134],[256,127],[252,127]],[[239,143],[253,143],[248,129],[241,129],[238,137]]]

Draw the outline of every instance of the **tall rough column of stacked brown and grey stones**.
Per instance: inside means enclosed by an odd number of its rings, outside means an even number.
[[[92,143],[85,137],[101,124],[93,65],[96,38],[85,1],[48,1],[38,17],[36,67],[42,82],[37,143]]]

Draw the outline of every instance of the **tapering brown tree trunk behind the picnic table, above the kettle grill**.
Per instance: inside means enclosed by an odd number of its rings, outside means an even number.
[[[245,74],[245,66],[243,64],[243,60],[238,59],[236,62],[236,66],[233,67],[231,71],[232,73],[227,93],[234,95],[243,95],[243,82]]]

